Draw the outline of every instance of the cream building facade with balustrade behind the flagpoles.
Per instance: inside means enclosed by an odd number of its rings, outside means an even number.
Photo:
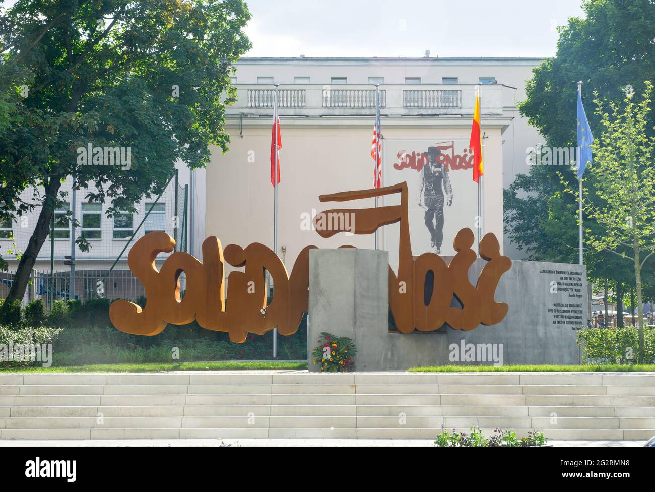
[[[371,138],[375,85],[383,107],[382,133],[391,140],[452,140],[470,137],[476,89],[481,91],[484,134],[482,208],[484,233],[495,233],[501,250],[519,252],[503,240],[502,190],[526,174],[526,149],[540,138],[517,111],[525,82],[539,58],[242,58],[233,83],[238,102],[229,107],[230,150],[213,149],[204,180],[205,230],[225,244],[261,242],[272,248],[273,188],[269,178],[274,84],[281,121],[281,183],[278,185],[278,251],[287,269],[309,244],[373,248],[373,235],[320,238],[303,218],[343,204],[319,195],[373,187]],[[384,179],[384,185],[390,183]],[[198,189],[200,189],[198,185]],[[346,204],[373,206],[373,199]],[[200,207],[202,208],[202,206]],[[452,213],[452,212],[451,212]],[[474,217],[458,218],[460,227]],[[383,248],[390,249],[384,242]],[[386,231],[386,232],[385,232]],[[391,237],[391,236],[390,236]]]

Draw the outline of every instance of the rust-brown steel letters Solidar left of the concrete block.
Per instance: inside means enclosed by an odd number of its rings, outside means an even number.
[[[202,244],[204,263],[184,252],[170,255],[160,271],[155,257],[173,250],[175,242],[166,233],[149,233],[138,240],[128,255],[132,273],[141,281],[147,299],[141,309],[129,301],[118,300],[109,308],[111,322],[133,335],[157,335],[167,323],[187,324],[197,320],[203,328],[229,332],[230,339],[242,343],[248,331],[259,335],[278,328],[292,335],[307,312],[309,295],[309,250],[298,255],[291,278],[279,257],[263,244],[250,244],[245,250],[230,244],[221,248],[216,237]],[[148,258],[145,263],[142,259]],[[228,278],[225,301],[223,261],[245,272],[233,271]],[[265,272],[271,274],[275,292],[266,305]],[[181,297],[179,277],[184,272],[187,289]],[[263,310],[263,308],[266,308]]]

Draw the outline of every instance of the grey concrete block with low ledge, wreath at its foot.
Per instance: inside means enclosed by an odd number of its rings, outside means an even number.
[[[441,364],[447,354],[445,330],[388,331],[388,252],[339,248],[310,250],[309,352],[322,331],[351,338],[356,371],[403,370]],[[311,363],[311,371],[319,369]]]

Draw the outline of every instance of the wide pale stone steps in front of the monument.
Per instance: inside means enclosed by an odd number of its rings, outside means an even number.
[[[0,374],[0,439],[655,435],[655,373]]]

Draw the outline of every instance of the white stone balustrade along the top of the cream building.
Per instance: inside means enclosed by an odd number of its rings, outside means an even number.
[[[472,115],[474,84],[384,85],[380,88],[385,115]],[[502,86],[482,85],[482,113],[502,115]],[[275,90],[271,85],[237,84],[237,102],[229,114],[270,115]],[[375,113],[371,85],[288,84],[278,87],[280,115],[357,116]]]

